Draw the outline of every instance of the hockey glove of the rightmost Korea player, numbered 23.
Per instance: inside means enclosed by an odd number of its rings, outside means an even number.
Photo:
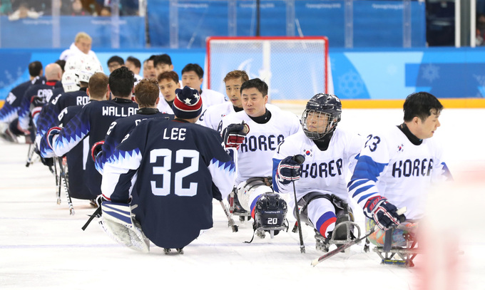
[[[397,213],[397,207],[387,202],[387,198],[382,196],[371,197],[364,205],[364,214],[369,219],[374,219],[377,226],[384,231],[396,227],[406,220],[404,214]]]

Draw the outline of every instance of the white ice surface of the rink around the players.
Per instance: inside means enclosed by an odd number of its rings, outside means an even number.
[[[165,255],[153,244],[149,254],[141,254],[118,246],[96,219],[83,232],[94,211],[88,202],[73,200],[76,214],[70,216],[64,192],[56,204],[47,167],[40,162],[25,166],[28,145],[0,141],[0,289],[485,289],[480,214],[485,207],[485,110],[445,109],[440,120],[434,138],[443,142],[456,180],[466,180],[448,187],[451,194],[439,190],[434,195],[444,209],[441,215],[449,217],[443,224],[460,238],[464,252],[451,264],[444,264],[441,255],[423,254],[412,269],[381,265],[377,254],[357,245],[313,267],[310,261],[323,253],[315,249],[310,227],[303,227],[305,254],[291,227],[275,239],[255,237],[245,244],[252,237],[251,223],[237,221],[239,232],[231,232],[218,202],[213,229],[185,247],[185,254]],[[401,122],[402,110],[344,110],[339,126],[364,135]],[[291,225],[294,221],[290,217]],[[357,221],[362,224],[360,211]],[[432,272],[444,273],[438,276],[444,286],[422,286],[425,262],[444,269]]]

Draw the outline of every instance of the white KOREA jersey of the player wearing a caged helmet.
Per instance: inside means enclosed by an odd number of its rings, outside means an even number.
[[[305,156],[305,162],[302,163],[300,180],[295,181],[297,200],[309,192],[334,194],[342,200],[348,200],[348,177],[357,163],[362,147],[364,147],[362,136],[337,127],[327,150],[322,151],[313,140],[300,131],[280,143],[273,157],[273,170],[277,170],[277,165],[285,157],[301,154]],[[273,185],[276,192],[293,192],[292,183],[282,185],[275,179]],[[290,206],[294,207],[294,205],[295,201],[290,200]]]

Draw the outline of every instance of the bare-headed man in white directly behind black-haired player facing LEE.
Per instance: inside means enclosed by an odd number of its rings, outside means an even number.
[[[220,120],[223,120],[225,115],[242,111],[240,88],[245,81],[249,81],[249,77],[245,71],[230,71],[225,75],[225,93],[228,95],[230,101],[205,109],[202,115],[200,115],[198,124],[218,130]]]

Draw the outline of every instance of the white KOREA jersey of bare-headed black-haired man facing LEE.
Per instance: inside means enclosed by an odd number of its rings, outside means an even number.
[[[253,121],[245,111],[226,115],[222,120],[221,132],[230,124],[244,121],[249,125],[244,143],[238,148],[238,177],[235,185],[250,177],[269,177],[272,174],[272,156],[277,145],[290,135],[302,130],[300,118],[285,110],[266,107],[271,113],[265,124]]]

